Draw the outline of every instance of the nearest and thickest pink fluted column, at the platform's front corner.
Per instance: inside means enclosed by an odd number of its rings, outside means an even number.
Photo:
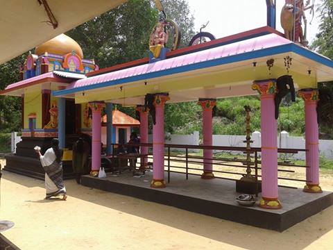
[[[261,94],[262,128],[262,200],[259,206],[282,208],[278,200],[278,122],[275,119],[276,81],[255,81],[253,90]]]

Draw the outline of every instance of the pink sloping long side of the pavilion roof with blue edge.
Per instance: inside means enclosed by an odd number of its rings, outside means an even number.
[[[147,79],[160,76],[160,72],[168,72],[169,74],[181,72],[181,67],[189,65],[200,65],[204,62],[216,61],[221,58],[228,58],[231,55],[241,53],[260,51],[262,49],[278,47],[285,44],[291,44],[290,40],[280,37],[280,35],[269,34],[259,38],[252,38],[233,44],[227,44],[205,51],[189,53],[184,56],[160,60],[156,63],[139,65],[128,69],[121,69],[116,72],[92,76],[85,79],[80,79],[71,83],[66,90],[56,92],[55,95],[72,94],[83,90],[92,90],[96,88],[108,87],[119,83],[128,83],[137,79]],[[214,66],[214,65],[213,65]],[[194,66],[196,69],[196,67]],[[151,76],[148,76],[151,75]],[[142,76],[142,77],[140,77]]]

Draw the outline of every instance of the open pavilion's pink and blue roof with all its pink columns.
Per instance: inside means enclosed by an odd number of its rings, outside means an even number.
[[[104,74],[103,74],[104,73]],[[152,188],[164,188],[164,103],[198,101],[203,108],[203,146],[212,147],[212,109],[216,99],[260,94],[262,131],[262,208],[279,209],[278,106],[284,94],[305,100],[307,184],[305,192],[321,192],[318,178],[317,84],[333,80],[333,62],[271,28],[262,28],[167,53],[165,59],[137,60],[71,83],[53,92],[92,108],[92,174],[101,165],[101,110],[104,103],[137,106],[140,134],[148,131],[148,110],[153,110]],[[295,86],[294,86],[295,84]],[[255,92],[257,90],[257,92]],[[276,98],[275,98],[276,97]],[[142,106],[145,104],[145,106]],[[146,107],[148,106],[148,110]],[[142,142],[148,142],[144,136]],[[145,146],[144,146],[145,147]],[[144,148],[143,147],[143,148]],[[95,151],[94,151],[95,149]],[[212,149],[203,150],[201,178],[214,178]],[[250,178],[250,176],[249,176]]]

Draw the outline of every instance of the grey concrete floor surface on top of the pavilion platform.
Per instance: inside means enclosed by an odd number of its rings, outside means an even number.
[[[146,172],[145,176],[140,178],[133,177],[133,175],[129,172],[124,172],[117,177],[112,177],[112,174],[108,174],[108,178],[103,178],[100,180],[125,183],[150,189],[151,179],[153,178],[152,176],[153,172]],[[91,176],[86,177],[93,178]],[[165,174],[164,180],[167,181],[167,174]],[[189,175],[189,179],[186,180],[185,174],[171,173],[170,183],[167,183],[167,188],[158,189],[158,191],[238,206],[235,198],[239,194],[236,192],[235,182],[220,178],[203,180],[200,178],[200,176]],[[259,208],[258,206],[253,206],[249,209],[264,210],[266,212],[268,211],[269,213],[282,214],[289,210],[293,210],[294,208],[298,208],[299,206],[305,205],[311,201],[315,201],[316,199],[320,199],[321,197],[325,197],[327,194],[332,194],[332,192],[327,191],[324,191],[321,194],[309,194],[302,192],[302,189],[300,188],[279,188],[278,192],[279,199],[283,206],[282,209],[267,210]],[[258,196],[258,201],[260,198],[261,194]]]

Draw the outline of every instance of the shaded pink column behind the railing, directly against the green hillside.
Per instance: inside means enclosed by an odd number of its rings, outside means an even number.
[[[203,146],[212,146],[213,144],[213,116],[212,111],[216,105],[216,99],[199,99],[198,105],[203,108]],[[212,179],[213,165],[212,149],[203,149],[203,174],[201,178]]]

